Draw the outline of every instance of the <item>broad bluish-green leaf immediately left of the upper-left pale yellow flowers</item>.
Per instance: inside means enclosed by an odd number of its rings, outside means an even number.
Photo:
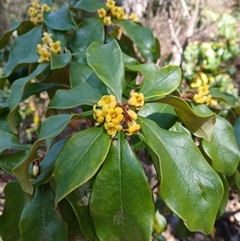
[[[39,25],[14,40],[3,77],[8,77],[19,64],[38,61],[39,55],[36,52],[36,46],[41,43],[41,36],[42,27]]]

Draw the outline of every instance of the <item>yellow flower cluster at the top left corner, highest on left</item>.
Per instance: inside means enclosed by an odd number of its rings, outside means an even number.
[[[31,5],[31,7],[28,9],[28,14],[30,16],[30,21],[37,25],[38,22],[43,21],[42,12],[49,12],[51,11],[51,8],[44,3],[42,6],[38,3],[38,0],[34,1]]]

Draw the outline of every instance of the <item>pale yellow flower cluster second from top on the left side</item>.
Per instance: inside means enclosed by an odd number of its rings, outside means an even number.
[[[42,37],[43,44],[37,45],[37,53],[40,55],[38,59],[38,63],[49,62],[50,61],[50,53],[53,52],[58,54],[61,52],[61,42],[58,40],[53,42],[51,38],[51,34],[44,32]]]

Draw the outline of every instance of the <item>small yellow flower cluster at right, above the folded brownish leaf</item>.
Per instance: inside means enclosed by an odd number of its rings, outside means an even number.
[[[209,95],[209,85],[199,86],[193,100],[198,104],[206,103],[212,107],[217,105],[217,101],[212,99],[212,95]]]

